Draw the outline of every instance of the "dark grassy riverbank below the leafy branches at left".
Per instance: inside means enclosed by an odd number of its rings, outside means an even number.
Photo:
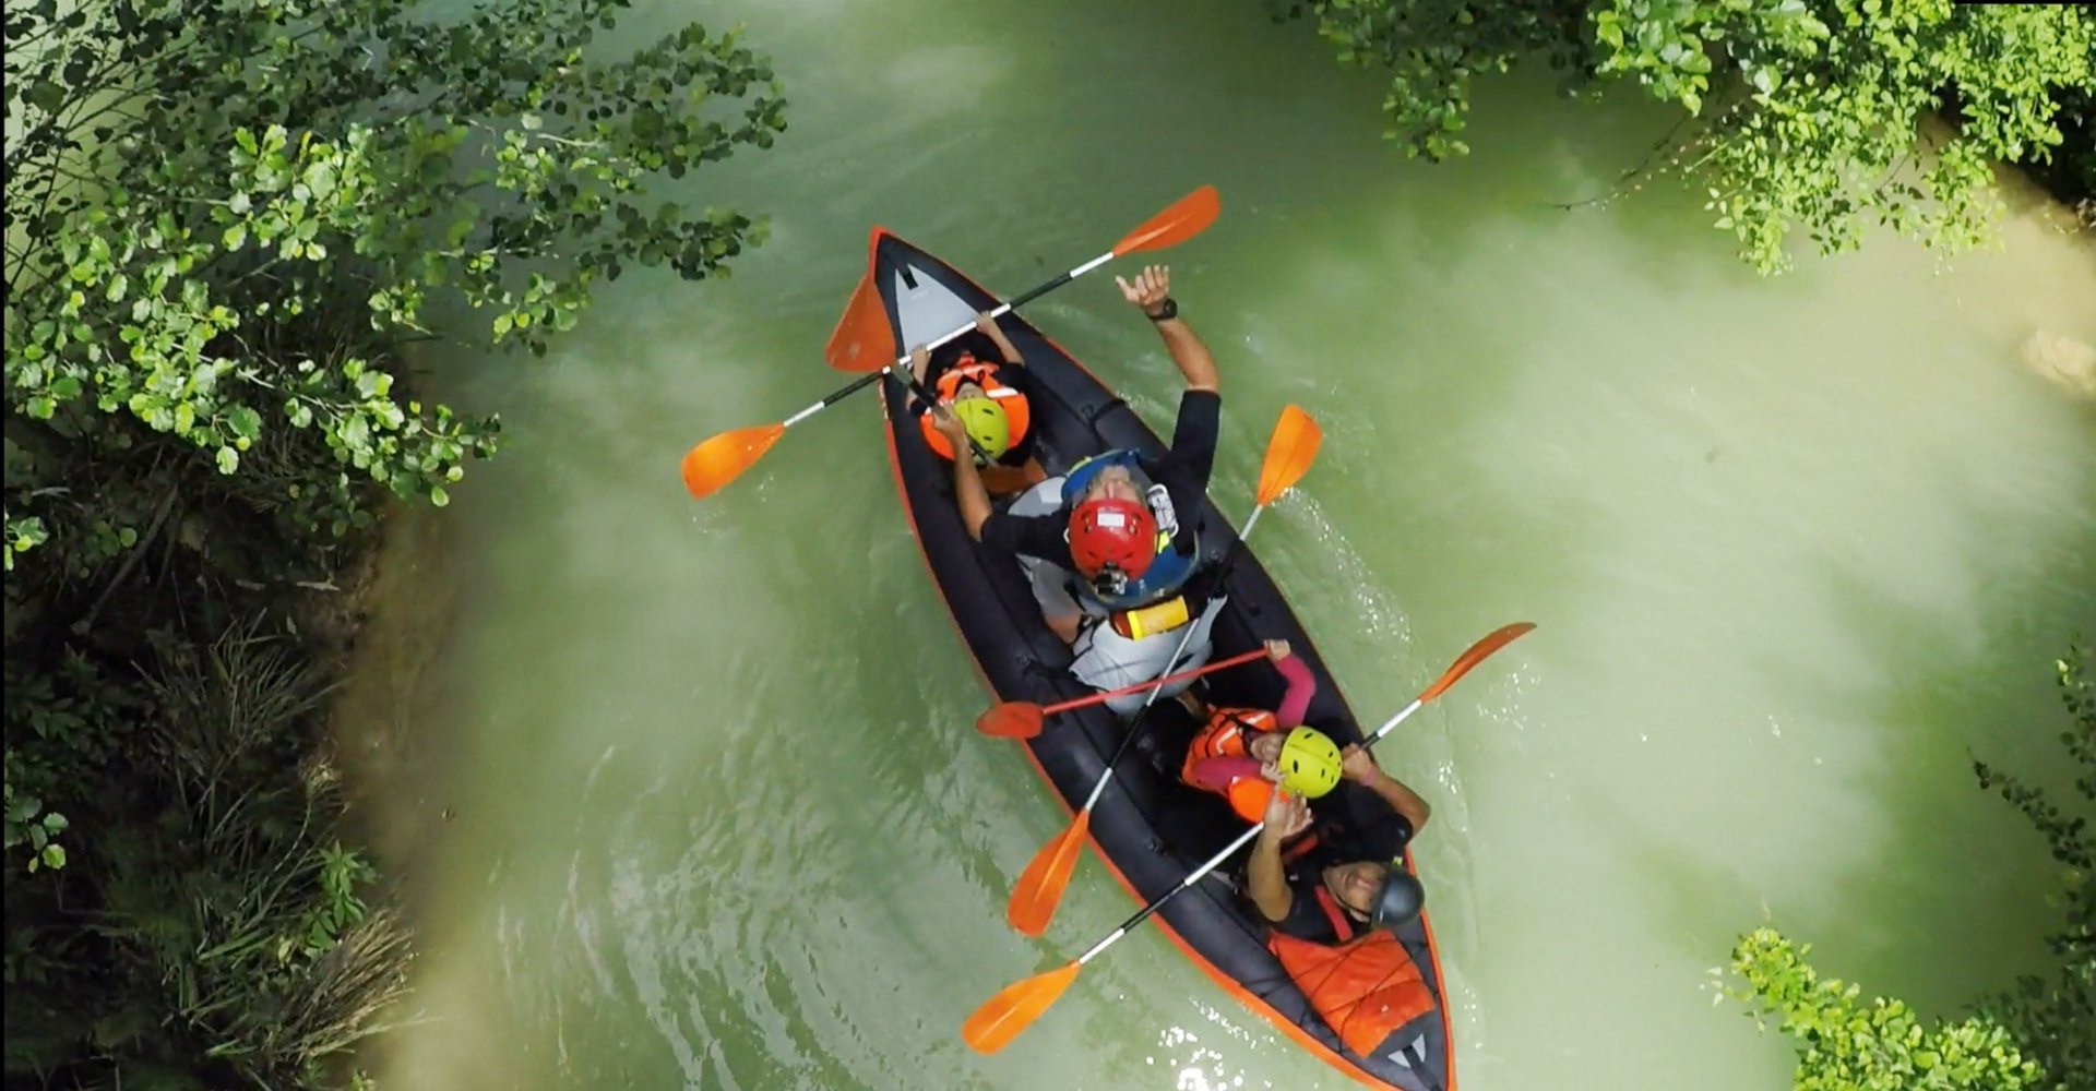
[[[335,1087],[407,986],[327,731],[375,540],[300,538],[218,482],[159,482],[103,565],[10,572],[8,863],[42,854],[6,884],[10,1083]]]

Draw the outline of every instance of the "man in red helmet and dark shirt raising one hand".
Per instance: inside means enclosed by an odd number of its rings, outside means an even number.
[[[1134,450],[1086,459],[1071,467],[1061,505],[1046,515],[994,511],[975,463],[954,461],[954,498],[968,534],[994,551],[1040,561],[1031,574],[1033,599],[1065,643],[1077,641],[1088,614],[1109,618],[1128,639],[1186,622],[1191,607],[1178,593],[1199,567],[1201,500],[1222,425],[1216,358],[1180,318],[1170,268],[1149,266],[1132,283],[1119,276],[1115,283],[1157,325],[1186,381],[1172,450],[1157,459]],[[964,431],[952,415],[935,415],[933,425],[949,442]]]

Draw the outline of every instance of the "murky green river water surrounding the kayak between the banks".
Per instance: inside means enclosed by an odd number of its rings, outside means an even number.
[[[1044,940],[1006,928],[1065,817],[970,729],[874,400],[677,482],[840,383],[870,224],[1017,293],[1203,182],[1222,218],[1165,260],[1224,375],[1211,494],[1241,521],[1281,406],[1320,421],[1258,551],[1360,716],[1541,626],[1381,748],[1436,806],[1465,1091],[1788,1087],[1712,1005],[1763,921],[1933,1014],[2037,965],[2048,863],[1968,758],[2058,764],[2048,664],[2096,637],[2096,413],[2027,360],[2096,343],[2088,235],[2010,188],[2002,249],[1759,279],[1671,180],[1549,207],[1662,109],[1492,80],[1476,155],[1409,163],[1377,77],[1258,4],[641,2],[620,38],[692,17],[788,86],[773,151],[677,184],[767,245],[425,379],[507,442],[400,521],[344,699],[423,951],[388,1089],[1352,1087],[1155,932],[970,1053],[981,999],[1132,903],[1086,859]],[[1167,425],[1109,274],[1027,314]]]

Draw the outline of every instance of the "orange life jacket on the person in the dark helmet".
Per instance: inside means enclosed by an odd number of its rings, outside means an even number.
[[[1436,1016],[1425,976],[1396,936],[1381,928],[1360,932],[1325,884],[1316,900],[1339,942],[1327,947],[1274,930],[1268,951],[1348,1049],[1362,1057],[1404,1051]]]

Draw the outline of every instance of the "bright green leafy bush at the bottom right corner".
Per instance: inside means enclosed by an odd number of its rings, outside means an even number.
[[[1725,995],[1750,1007],[1754,1026],[1775,1020],[1798,1041],[1796,1091],[2025,1091],[2046,1087],[2037,1064],[1987,1018],[1924,1026],[1901,1001],[1859,1001],[1861,988],[1819,974],[1796,947],[1759,928],[1731,949],[1742,984]]]

